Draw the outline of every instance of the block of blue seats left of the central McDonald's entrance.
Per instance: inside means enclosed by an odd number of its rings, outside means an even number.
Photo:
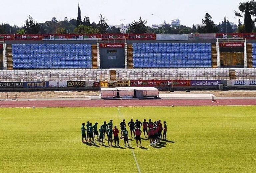
[[[92,68],[91,44],[13,44],[14,69]]]

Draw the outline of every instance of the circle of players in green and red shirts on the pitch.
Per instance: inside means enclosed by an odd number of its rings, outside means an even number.
[[[134,138],[136,139],[136,144],[138,147],[138,142],[140,143],[140,147],[141,147],[141,134],[142,131],[140,130],[141,127],[143,126],[143,133],[144,133],[144,137],[146,138],[146,135],[148,136],[149,140],[150,140],[150,146],[153,146],[157,143],[158,140],[166,140],[166,132],[167,132],[167,125],[166,122],[164,121],[164,126],[161,123],[161,120],[152,122],[151,119],[149,119],[149,122],[146,121],[146,119],[144,119],[143,122],[140,122],[139,120],[136,120],[135,122],[133,121],[133,119],[131,119],[131,121],[127,124],[130,128],[130,134],[131,134],[131,138],[132,135],[134,135]],[[89,121],[87,121],[86,124],[86,128],[85,129],[85,123],[82,123],[82,127],[81,127],[81,131],[82,131],[82,142],[92,142],[94,144],[96,144],[96,142],[94,142],[94,140],[99,141],[100,145],[102,143],[102,145],[104,145],[103,139],[105,139],[105,134],[107,134],[108,137],[108,145],[112,146],[112,139],[113,139],[113,135],[114,135],[114,143],[115,146],[117,144],[117,146],[120,147],[119,145],[119,130],[117,129],[117,126],[114,126],[113,129],[113,120],[110,120],[109,123],[107,123],[106,121],[104,121],[103,125],[100,126],[100,129],[98,131],[98,123],[96,122],[94,125],[92,125],[92,123],[90,123]],[[121,129],[121,139],[124,139],[124,145],[126,147],[129,147],[129,141],[128,141],[128,131],[126,129],[126,123],[125,123],[125,119],[120,123],[120,129]],[[85,131],[87,131],[87,136]],[[163,131],[163,136],[162,136],[162,131]],[[84,141],[85,138],[85,141]]]

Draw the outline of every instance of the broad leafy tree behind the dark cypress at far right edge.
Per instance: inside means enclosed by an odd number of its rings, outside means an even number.
[[[248,2],[241,2],[238,6],[239,11],[235,11],[237,17],[244,17],[246,11],[246,4],[249,5],[249,12],[255,18],[256,17],[256,2],[254,0]],[[256,19],[253,20],[256,22]]]

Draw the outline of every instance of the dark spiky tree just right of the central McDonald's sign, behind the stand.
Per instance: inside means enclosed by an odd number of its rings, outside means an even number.
[[[127,33],[144,34],[147,31],[146,24],[147,24],[147,21],[142,20],[140,17],[138,22],[134,20],[134,22],[132,22],[132,24],[129,24]]]

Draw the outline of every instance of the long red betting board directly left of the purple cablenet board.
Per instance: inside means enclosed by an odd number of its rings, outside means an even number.
[[[131,87],[191,86],[190,80],[131,80]]]

